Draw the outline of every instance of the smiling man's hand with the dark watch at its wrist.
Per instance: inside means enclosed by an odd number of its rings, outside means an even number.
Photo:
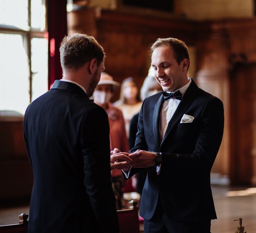
[[[132,167],[150,167],[156,164],[156,153],[145,150],[136,150],[129,157],[132,159],[130,165]]]

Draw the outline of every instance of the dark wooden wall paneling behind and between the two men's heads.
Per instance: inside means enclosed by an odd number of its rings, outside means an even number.
[[[94,36],[106,53],[106,72],[122,82],[133,77],[141,87],[151,64],[150,47],[159,37],[195,44],[197,23],[110,10],[82,9],[68,14],[68,32]],[[119,97],[119,90],[113,100]]]

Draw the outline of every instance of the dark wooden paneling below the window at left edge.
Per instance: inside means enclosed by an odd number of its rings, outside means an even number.
[[[22,133],[23,117],[0,117],[0,205],[30,197],[33,172]]]

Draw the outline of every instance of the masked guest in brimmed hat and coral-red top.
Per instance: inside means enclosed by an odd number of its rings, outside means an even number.
[[[94,102],[101,106],[108,115],[110,149],[121,147],[123,151],[128,152],[129,144],[125,132],[124,118],[121,110],[115,108],[110,99],[114,91],[120,84],[113,80],[109,74],[102,72],[98,86],[96,87],[93,98]],[[122,172],[117,169],[111,171],[111,181],[114,194],[116,196],[116,208],[122,209],[124,178]]]

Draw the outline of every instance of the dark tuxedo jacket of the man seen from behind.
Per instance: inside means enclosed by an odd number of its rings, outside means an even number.
[[[119,232],[106,112],[77,85],[55,81],[23,124],[34,174],[28,232]]]

